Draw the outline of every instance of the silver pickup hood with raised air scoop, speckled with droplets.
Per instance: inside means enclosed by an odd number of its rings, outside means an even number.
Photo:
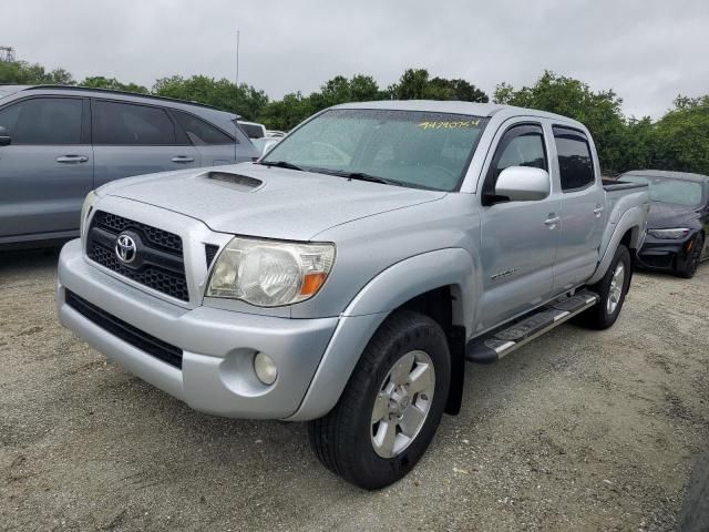
[[[446,194],[253,163],[132,177],[97,192],[191,216],[213,231],[292,241]]]

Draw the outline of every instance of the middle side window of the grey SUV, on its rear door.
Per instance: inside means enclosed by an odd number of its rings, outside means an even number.
[[[162,108],[95,101],[93,143],[107,145],[174,145],[175,126]]]

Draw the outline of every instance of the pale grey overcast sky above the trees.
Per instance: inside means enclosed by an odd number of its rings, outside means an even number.
[[[492,95],[544,69],[613,89],[627,115],[661,115],[709,93],[707,0],[1,0],[0,45],[78,80],[234,79],[270,98],[407,68],[464,78]]]

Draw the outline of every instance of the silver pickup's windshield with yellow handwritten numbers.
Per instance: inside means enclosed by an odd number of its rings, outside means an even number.
[[[450,192],[460,186],[486,123],[464,114],[336,109],[284,139],[261,164]]]

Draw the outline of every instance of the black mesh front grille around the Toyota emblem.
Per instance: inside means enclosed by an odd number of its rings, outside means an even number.
[[[116,241],[125,233],[137,245],[132,264],[122,263],[115,253]],[[174,233],[103,211],[96,212],[86,235],[90,259],[148,288],[188,301],[182,249],[182,238]]]

